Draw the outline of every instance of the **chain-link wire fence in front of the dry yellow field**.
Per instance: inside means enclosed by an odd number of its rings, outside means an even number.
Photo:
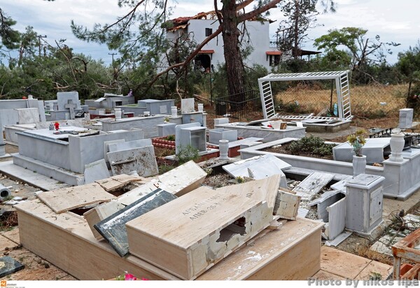
[[[273,88],[276,112],[336,116],[337,91],[316,85],[294,84],[290,88]],[[363,118],[398,115],[406,107],[408,84],[350,86],[351,114]]]

